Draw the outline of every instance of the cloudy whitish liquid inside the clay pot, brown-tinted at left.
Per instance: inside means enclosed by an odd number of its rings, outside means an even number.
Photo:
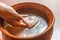
[[[36,18],[38,18],[37,20],[39,20],[39,22],[34,27],[30,29],[29,28],[23,29],[20,27],[13,27],[13,26],[11,27],[11,25],[5,24],[6,30],[9,33],[15,36],[18,36],[18,37],[31,37],[31,36],[39,35],[47,28],[48,25],[43,18],[41,18],[40,16],[36,16],[36,15],[29,15],[29,16],[35,16]]]

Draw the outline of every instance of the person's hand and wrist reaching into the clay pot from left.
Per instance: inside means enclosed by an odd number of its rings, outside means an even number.
[[[20,16],[12,7],[2,2],[0,2],[0,17],[13,26],[29,27],[29,24],[24,21],[22,16]],[[23,24],[18,22],[20,20],[23,21]]]

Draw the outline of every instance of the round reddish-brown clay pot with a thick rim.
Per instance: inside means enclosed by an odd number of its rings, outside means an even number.
[[[4,20],[0,18],[0,28],[4,40],[51,40],[54,25],[54,15],[49,8],[38,3],[20,3],[12,6],[18,13],[33,12],[34,14],[41,16],[47,22],[48,27],[41,34],[37,36],[19,38],[8,33],[4,28]]]

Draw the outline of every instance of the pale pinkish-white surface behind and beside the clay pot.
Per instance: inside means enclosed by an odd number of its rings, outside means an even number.
[[[3,1],[3,0],[0,0]],[[7,1],[7,2],[6,2]],[[18,0],[4,0],[3,2],[10,2],[11,5],[16,4]],[[13,3],[15,2],[15,3]],[[55,14],[55,25],[54,25],[54,33],[52,36],[52,40],[60,40],[60,0],[20,0],[20,2],[37,2],[46,5],[49,7],[52,12]]]

